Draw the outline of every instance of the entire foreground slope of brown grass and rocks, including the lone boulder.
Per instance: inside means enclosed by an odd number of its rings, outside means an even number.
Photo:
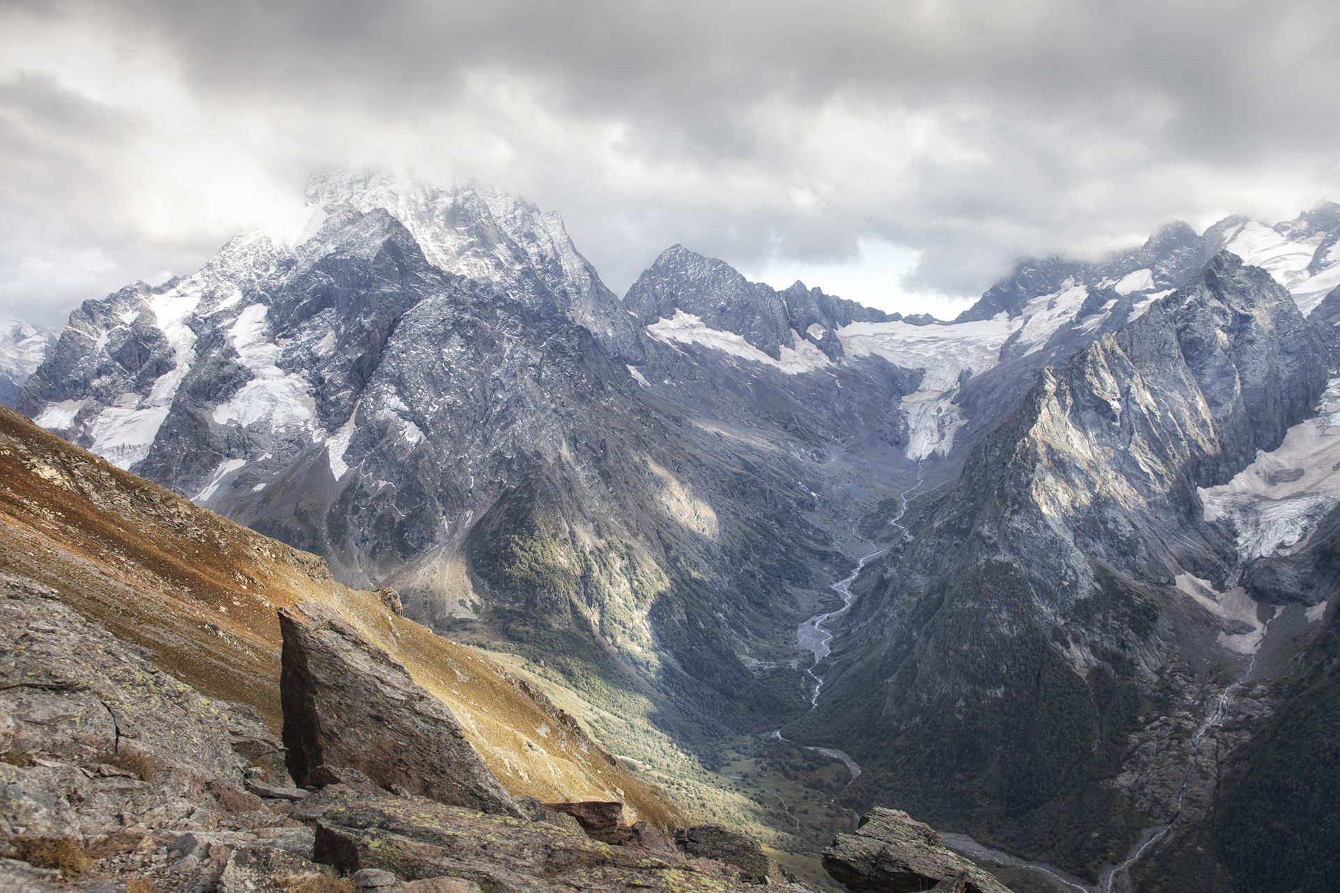
[[[792,885],[394,592],[7,411],[0,474],[0,890]],[[887,810],[825,860],[852,889],[1005,889]]]

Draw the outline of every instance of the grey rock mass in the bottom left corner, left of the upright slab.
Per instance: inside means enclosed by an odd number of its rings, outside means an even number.
[[[322,873],[253,711],[178,681],[42,584],[3,574],[0,592],[0,889],[268,890]]]

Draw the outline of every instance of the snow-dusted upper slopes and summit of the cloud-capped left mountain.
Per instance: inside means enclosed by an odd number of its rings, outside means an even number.
[[[359,364],[375,360],[399,315],[457,292],[431,268],[636,356],[631,319],[557,214],[381,174],[320,174],[306,198],[306,220],[241,233],[189,276],[87,301],[17,399],[24,411],[122,467],[163,450],[185,418],[245,430],[256,455],[292,455],[336,436],[352,391],[332,382],[366,375]],[[352,370],[320,370],[336,353]]]

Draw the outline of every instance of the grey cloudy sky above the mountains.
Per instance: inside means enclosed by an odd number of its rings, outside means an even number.
[[[560,210],[620,293],[682,242],[950,313],[1340,198],[1337,47],[1333,1],[0,0],[0,316],[190,272],[327,167]]]

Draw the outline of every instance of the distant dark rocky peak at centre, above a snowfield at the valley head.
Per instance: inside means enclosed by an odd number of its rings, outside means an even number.
[[[797,341],[836,359],[843,352],[840,327],[900,319],[801,282],[777,292],[682,245],[665,250],[632,284],[624,303],[643,325],[691,316],[709,329],[740,335],[775,360],[784,347],[795,351]]]

